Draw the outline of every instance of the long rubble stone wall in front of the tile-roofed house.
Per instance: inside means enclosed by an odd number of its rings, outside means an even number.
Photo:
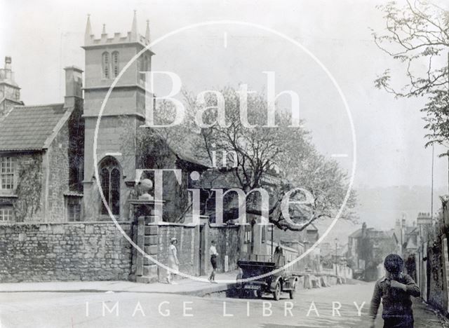
[[[0,224],[0,282],[128,280],[130,254],[112,222]]]

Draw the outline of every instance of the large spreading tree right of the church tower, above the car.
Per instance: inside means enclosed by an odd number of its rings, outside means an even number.
[[[257,188],[269,192],[269,221],[283,230],[302,231],[318,219],[335,215],[347,193],[347,175],[335,160],[329,160],[316,151],[311,143],[310,133],[303,125],[299,128],[288,126],[290,114],[278,110],[278,127],[263,127],[267,124],[267,100],[263,95],[255,94],[248,95],[246,99],[248,124],[252,125],[248,127],[241,120],[239,92],[233,88],[224,88],[219,94],[222,95],[220,102],[225,108],[225,124],[216,123],[220,117],[216,108],[217,95],[209,93],[199,102],[197,97],[185,91],[186,117],[182,125],[140,128],[133,140],[125,142],[128,145],[135,144],[140,167],[163,168],[166,165],[164,158],[171,150],[190,153],[192,158],[200,163],[208,163],[208,166],[213,163],[214,151],[234,152],[235,158],[228,158],[230,165],[211,172],[208,184],[202,186],[208,194],[206,206],[208,203],[215,203],[215,195],[211,192],[215,180],[220,179],[220,175],[232,174],[239,188],[246,193]],[[196,124],[199,113],[202,113],[201,120],[207,127],[200,128]],[[157,125],[168,124],[173,122],[175,114],[171,102],[160,102],[155,109],[154,121]],[[311,203],[300,208],[305,215],[296,219],[292,215],[293,223],[301,225],[292,224],[281,212],[281,200],[293,188],[305,189],[312,197]],[[292,197],[304,200],[304,195],[300,192],[293,193]],[[351,212],[355,202],[355,194],[351,193],[344,208],[345,219],[355,218]],[[246,213],[262,214],[257,193],[251,193],[245,205]]]

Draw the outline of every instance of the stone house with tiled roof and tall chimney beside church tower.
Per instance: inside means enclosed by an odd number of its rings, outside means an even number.
[[[0,121],[0,221],[81,219],[82,71],[65,72],[65,102],[15,106]]]

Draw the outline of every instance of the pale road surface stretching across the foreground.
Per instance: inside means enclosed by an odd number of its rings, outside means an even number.
[[[286,294],[277,302],[268,295],[229,299],[135,292],[0,293],[0,327],[360,328],[367,327],[372,290],[373,284],[340,285],[302,290],[293,301]],[[356,306],[363,302],[359,316]],[[443,327],[419,304],[415,317],[415,327]]]

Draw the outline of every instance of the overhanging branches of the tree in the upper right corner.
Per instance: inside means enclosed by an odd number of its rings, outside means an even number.
[[[407,0],[405,6],[392,1],[377,8],[384,13],[386,30],[382,34],[373,32],[374,41],[403,64],[408,82],[393,86],[391,70],[386,69],[375,86],[398,98],[427,96],[428,102],[421,109],[429,130],[426,146],[448,146],[449,11],[422,0]],[[422,69],[423,63],[426,69]]]

